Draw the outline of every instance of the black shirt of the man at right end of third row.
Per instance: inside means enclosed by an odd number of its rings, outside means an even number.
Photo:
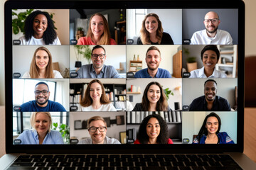
[[[207,105],[206,96],[201,96],[192,101],[189,111],[209,111]],[[230,104],[225,98],[215,96],[213,108],[210,111],[230,111]]]

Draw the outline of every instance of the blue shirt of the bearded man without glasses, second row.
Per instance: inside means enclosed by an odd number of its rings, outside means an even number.
[[[148,68],[139,70],[135,73],[134,78],[153,78],[147,70]],[[171,74],[166,69],[158,68],[154,78],[171,78]]]

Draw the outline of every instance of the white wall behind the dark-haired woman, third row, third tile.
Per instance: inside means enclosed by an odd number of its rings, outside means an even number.
[[[142,96],[144,93],[144,89],[151,81],[157,81],[161,86],[163,86],[163,89],[169,88],[169,90],[174,92],[174,96],[169,95],[169,100],[167,101],[169,104],[169,107],[174,110],[174,102],[179,102],[180,108],[182,106],[181,103],[181,89],[180,91],[175,90],[176,87],[181,86],[181,79],[129,79],[127,80],[127,91],[128,88],[131,87],[131,85],[140,86],[141,88],[141,94],[132,94],[133,101],[132,106],[134,107],[136,103],[142,103]],[[181,87],[182,88],[182,87]],[[130,94],[127,94],[127,96],[130,96]]]

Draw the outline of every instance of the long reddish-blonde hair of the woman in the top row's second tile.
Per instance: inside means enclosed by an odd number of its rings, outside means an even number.
[[[107,19],[105,18],[105,16],[103,16],[101,13],[94,13],[91,17],[90,17],[90,22],[89,22],[89,28],[87,30],[87,35],[86,37],[87,38],[93,38],[93,33],[92,33],[92,28],[91,28],[91,22],[92,22],[92,18],[94,16],[100,16],[102,19],[103,19],[103,26],[104,26],[104,30],[103,30],[103,33],[101,35],[101,38],[100,38],[100,42],[99,42],[99,45],[110,45],[110,28],[108,26],[108,23],[107,23]]]

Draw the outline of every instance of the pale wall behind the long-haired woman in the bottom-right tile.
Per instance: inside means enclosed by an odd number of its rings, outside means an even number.
[[[188,138],[189,143],[193,142],[193,135],[198,132],[203,125],[203,120],[210,112],[183,112],[182,113],[182,138]],[[220,132],[227,132],[234,142],[237,142],[237,112],[216,112],[220,116]]]

